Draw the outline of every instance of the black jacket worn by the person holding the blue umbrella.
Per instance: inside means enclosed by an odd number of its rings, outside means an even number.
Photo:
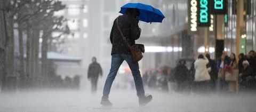
[[[138,26],[138,20],[133,18],[129,14],[120,15],[118,18],[118,25],[122,30],[122,33],[127,39],[130,45],[135,44],[135,40],[140,37],[140,31]],[[122,36],[117,29],[116,20],[113,23],[113,27],[110,33],[110,42],[112,44],[111,55],[114,53],[131,54],[129,47],[123,42]]]

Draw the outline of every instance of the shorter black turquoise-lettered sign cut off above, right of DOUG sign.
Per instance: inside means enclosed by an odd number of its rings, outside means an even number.
[[[211,14],[226,14],[227,0],[211,0]]]

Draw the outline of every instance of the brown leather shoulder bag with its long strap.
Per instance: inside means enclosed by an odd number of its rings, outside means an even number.
[[[143,58],[143,55],[142,55],[142,52],[144,53],[145,52],[145,49],[144,49],[144,45],[143,44],[135,44],[133,46],[131,46],[127,40],[126,40],[126,37],[124,36],[124,34],[122,33],[119,25],[118,25],[118,19],[116,19],[116,25],[117,25],[117,29],[119,30],[119,33],[121,34],[121,36],[123,37],[123,42],[125,44],[127,44],[127,46],[129,47],[130,51],[131,51],[131,54],[132,54],[132,58],[133,58],[133,61],[140,61],[142,58]]]

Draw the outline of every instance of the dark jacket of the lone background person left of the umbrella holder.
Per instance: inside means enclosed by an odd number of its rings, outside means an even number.
[[[100,67],[100,64],[97,62],[91,63],[89,65],[87,78],[98,78],[99,75],[102,76],[102,69]]]

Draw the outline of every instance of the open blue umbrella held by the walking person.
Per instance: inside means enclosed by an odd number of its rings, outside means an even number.
[[[124,14],[127,8],[136,8],[140,10],[140,16],[137,18],[140,21],[144,22],[162,22],[164,14],[155,9],[153,6],[142,4],[142,3],[127,3],[121,7],[121,11],[119,13]]]

